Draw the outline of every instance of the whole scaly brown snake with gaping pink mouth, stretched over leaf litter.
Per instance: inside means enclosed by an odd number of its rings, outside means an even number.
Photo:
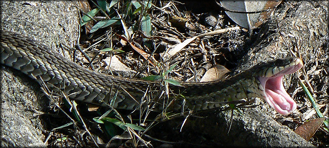
[[[296,102],[285,91],[282,78],[303,66],[298,57],[261,62],[227,80],[180,82],[179,86],[169,84],[168,99],[157,99],[161,98],[156,96],[161,96],[159,89],[164,86],[160,81],[124,78],[87,69],[16,32],[2,31],[0,42],[1,64],[25,73],[41,86],[46,84],[53,93],[64,92],[70,99],[99,106],[127,110],[150,107],[159,111],[167,107],[173,111],[200,111],[258,97],[282,115],[297,108]]]

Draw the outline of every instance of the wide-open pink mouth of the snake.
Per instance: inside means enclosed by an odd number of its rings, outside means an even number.
[[[270,77],[259,77],[259,81],[264,89],[265,101],[275,109],[276,112],[287,115],[296,108],[296,102],[285,91],[282,84],[282,77],[296,72],[303,66],[300,59],[296,59],[295,64],[276,70]],[[279,69],[279,68],[276,68]]]

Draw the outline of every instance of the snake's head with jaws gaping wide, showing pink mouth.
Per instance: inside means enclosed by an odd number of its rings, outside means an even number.
[[[282,115],[290,114],[296,109],[297,105],[285,91],[282,77],[299,70],[303,66],[303,62],[297,57],[287,57],[269,61],[266,64],[268,65],[263,65],[264,68],[257,72],[260,82],[259,88],[263,90],[263,93],[261,93],[262,98],[276,112]]]

